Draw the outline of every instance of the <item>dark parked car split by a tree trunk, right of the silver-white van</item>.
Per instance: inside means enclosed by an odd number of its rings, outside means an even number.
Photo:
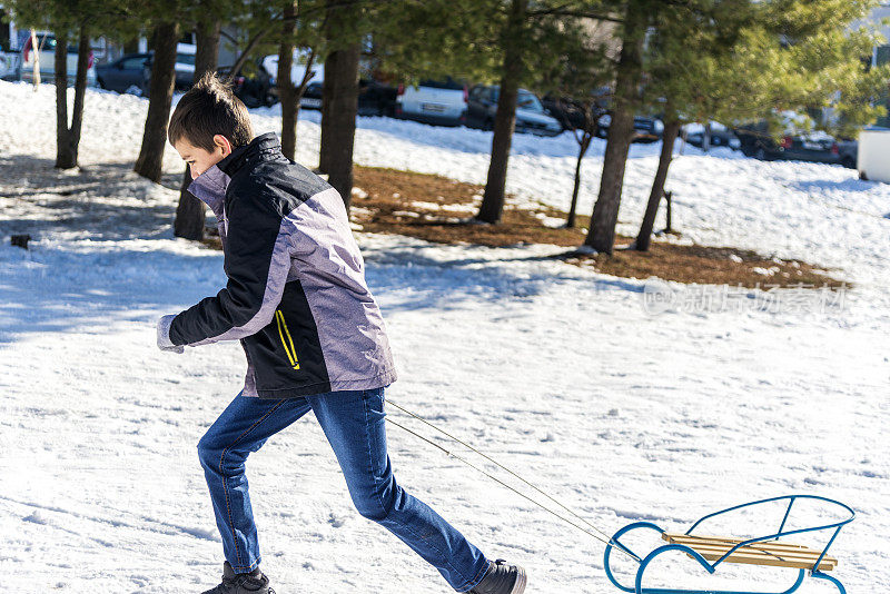
[[[501,88],[476,85],[469,91],[464,122],[471,128],[491,130],[497,112]],[[516,98],[516,131],[538,136],[562,133],[563,126],[544,109],[541,99],[532,91],[520,89]]]

